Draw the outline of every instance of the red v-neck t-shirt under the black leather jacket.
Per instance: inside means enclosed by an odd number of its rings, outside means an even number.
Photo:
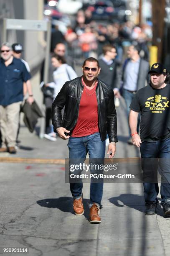
[[[83,137],[99,132],[98,105],[96,86],[92,90],[87,89],[83,78],[81,79],[84,89],[81,95],[79,116],[72,137]]]

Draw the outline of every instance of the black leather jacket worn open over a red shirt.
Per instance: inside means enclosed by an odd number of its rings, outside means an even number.
[[[52,104],[52,123],[54,132],[56,128],[64,127],[70,135],[77,123],[80,99],[83,92],[81,77],[66,82]],[[117,115],[114,106],[114,92],[104,82],[98,79],[96,87],[98,103],[99,132],[101,140],[109,136],[110,142],[117,142]],[[65,106],[62,119],[61,110]]]

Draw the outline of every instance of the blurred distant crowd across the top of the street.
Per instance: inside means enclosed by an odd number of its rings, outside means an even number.
[[[60,36],[58,36],[58,33],[60,33]],[[56,26],[52,33],[51,51],[57,43],[65,42],[68,45],[69,53],[73,57],[79,55],[84,58],[89,56],[99,57],[105,44],[114,44],[117,47],[117,61],[121,63],[123,49],[132,41],[137,42],[142,49],[142,56],[148,60],[149,51],[147,46],[152,41],[150,22],[138,26],[130,20],[124,23],[96,22],[92,19],[90,10],[79,10],[75,23],[67,27],[65,35],[62,35]]]

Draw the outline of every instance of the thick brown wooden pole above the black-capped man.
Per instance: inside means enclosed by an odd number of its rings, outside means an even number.
[[[165,18],[165,0],[152,0],[152,45],[157,46],[157,61],[162,62],[163,34]]]

